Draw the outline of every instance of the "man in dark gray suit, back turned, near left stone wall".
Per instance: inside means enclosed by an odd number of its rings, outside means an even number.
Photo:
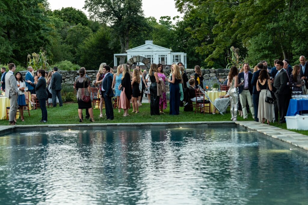
[[[58,68],[54,67],[54,74],[51,77],[51,90],[52,90],[52,105],[53,107],[57,107],[57,97],[59,99],[59,106],[63,106],[63,101],[61,97],[61,83],[62,83],[62,75],[58,73]]]

